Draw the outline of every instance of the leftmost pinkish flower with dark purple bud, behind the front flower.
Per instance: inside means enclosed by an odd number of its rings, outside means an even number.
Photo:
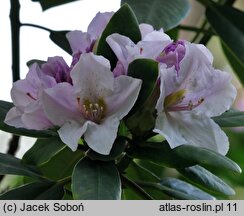
[[[43,112],[40,98],[43,90],[52,88],[57,83],[69,82],[70,69],[62,57],[48,58],[41,68],[31,65],[25,79],[13,84],[11,97],[14,107],[6,115],[5,123],[27,129],[47,129],[53,126]]]

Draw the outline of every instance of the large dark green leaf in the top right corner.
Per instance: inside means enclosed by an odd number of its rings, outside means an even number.
[[[244,20],[244,13],[227,5],[213,3],[207,7],[206,16],[220,38],[243,63],[244,25],[240,20]]]

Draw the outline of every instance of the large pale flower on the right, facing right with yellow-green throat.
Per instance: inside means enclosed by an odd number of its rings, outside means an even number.
[[[235,99],[231,76],[212,67],[213,57],[203,45],[185,42],[184,49],[178,66],[160,64],[154,132],[164,136],[171,148],[188,144],[225,155],[228,138],[211,117],[228,110]]]

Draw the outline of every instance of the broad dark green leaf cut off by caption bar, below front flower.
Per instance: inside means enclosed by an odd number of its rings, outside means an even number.
[[[121,183],[119,173],[112,162],[81,159],[72,175],[74,199],[119,200]]]

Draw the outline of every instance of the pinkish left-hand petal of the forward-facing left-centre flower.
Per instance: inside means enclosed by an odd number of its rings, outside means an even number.
[[[45,114],[54,125],[62,126],[72,119],[82,121],[73,86],[69,83],[59,83],[53,88],[46,89],[41,101]]]

